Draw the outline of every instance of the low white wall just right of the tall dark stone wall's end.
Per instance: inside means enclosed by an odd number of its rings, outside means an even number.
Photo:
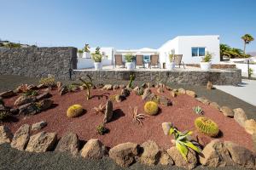
[[[102,59],[102,65],[112,65],[112,59]],[[78,58],[78,69],[88,69],[94,67],[92,59]]]

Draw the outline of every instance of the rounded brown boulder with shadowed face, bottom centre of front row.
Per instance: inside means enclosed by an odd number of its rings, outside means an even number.
[[[109,150],[109,157],[121,167],[129,167],[138,155],[138,145],[131,142],[118,144]]]

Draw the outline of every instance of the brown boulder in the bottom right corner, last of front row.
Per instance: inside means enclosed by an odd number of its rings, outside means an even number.
[[[225,141],[224,146],[229,150],[230,158],[234,163],[247,169],[256,169],[255,156],[252,151],[229,141]]]

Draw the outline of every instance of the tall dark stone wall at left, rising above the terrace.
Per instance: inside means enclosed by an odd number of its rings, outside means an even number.
[[[0,74],[25,77],[54,75],[67,79],[77,68],[77,48],[0,48]]]

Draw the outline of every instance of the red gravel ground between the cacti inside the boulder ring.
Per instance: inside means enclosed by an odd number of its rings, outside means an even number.
[[[152,90],[157,94],[155,89]],[[63,133],[70,131],[77,133],[81,140],[100,139],[103,144],[109,147],[125,142],[142,144],[148,139],[151,139],[159,144],[160,147],[168,149],[172,145],[172,137],[164,135],[161,127],[162,122],[172,122],[180,131],[192,130],[194,137],[198,136],[203,145],[212,140],[212,138],[196,132],[194,121],[198,115],[192,111],[192,107],[200,105],[203,111],[205,111],[205,116],[218,123],[221,131],[218,139],[230,140],[250,150],[253,149],[251,135],[246,133],[244,128],[240,127],[234,119],[223,116],[218,110],[211,106],[203,105],[188,95],[180,95],[177,98],[172,98],[170,92],[167,90],[161,95],[165,95],[171,99],[172,106],[160,105],[160,113],[157,116],[148,116],[143,121],[143,126],[132,122],[132,111],[130,109],[130,106],[131,108],[137,106],[138,113],[144,113],[143,105],[145,102],[141,96],[131,93],[123,102],[114,102],[113,121],[108,122],[106,125],[110,132],[105,135],[97,134],[96,126],[102,123],[103,115],[96,115],[93,107],[105,104],[110,95],[119,93],[120,90],[102,91],[100,89],[94,89],[91,91],[92,99],[85,100],[84,92],[69,93],[60,96],[56,90],[52,90],[51,94],[53,94],[53,97],[51,99],[54,100],[56,105],[54,108],[43,111],[35,116],[18,116],[19,121],[4,122],[3,124],[10,127],[12,132],[15,133],[24,123],[32,125],[35,122],[46,121],[48,125],[43,130],[56,132],[59,138]],[[5,104],[13,106],[15,99],[17,99],[17,96],[11,99],[5,99]],[[67,118],[67,108],[74,104],[83,105],[86,112],[83,116],[77,118]]]

